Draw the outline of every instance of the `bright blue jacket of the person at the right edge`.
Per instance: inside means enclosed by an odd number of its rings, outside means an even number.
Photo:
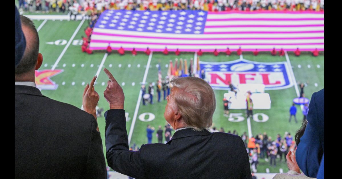
[[[296,161],[306,176],[324,178],[324,89],[312,95],[306,119],[308,123],[296,150]]]

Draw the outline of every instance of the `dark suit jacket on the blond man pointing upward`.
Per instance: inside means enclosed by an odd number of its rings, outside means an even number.
[[[249,178],[245,144],[237,135],[183,129],[167,144],[145,144],[130,151],[125,112],[105,113],[108,166],[133,178]]]

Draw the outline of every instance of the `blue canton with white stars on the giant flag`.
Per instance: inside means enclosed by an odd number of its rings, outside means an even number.
[[[206,11],[128,11],[106,10],[95,27],[108,30],[151,33],[201,34],[207,20]]]

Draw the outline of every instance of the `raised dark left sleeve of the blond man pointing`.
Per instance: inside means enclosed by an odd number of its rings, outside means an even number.
[[[144,178],[139,151],[130,151],[123,109],[110,109],[105,113],[107,163],[115,171],[133,178]]]

